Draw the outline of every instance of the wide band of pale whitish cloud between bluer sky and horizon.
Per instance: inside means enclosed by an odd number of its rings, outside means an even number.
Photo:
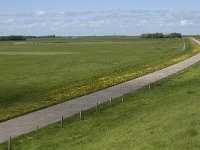
[[[0,12],[0,33],[15,34],[140,34],[200,32],[200,10],[110,10],[85,12]],[[8,19],[10,18],[10,19]],[[187,27],[187,29],[186,29]],[[10,29],[14,30],[10,30]],[[37,29],[37,30],[36,30]],[[11,32],[12,31],[12,32]],[[37,32],[36,32],[37,31]]]

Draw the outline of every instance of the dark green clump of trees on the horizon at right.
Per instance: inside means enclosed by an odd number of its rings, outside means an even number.
[[[145,33],[140,36],[141,38],[182,38],[181,33]]]

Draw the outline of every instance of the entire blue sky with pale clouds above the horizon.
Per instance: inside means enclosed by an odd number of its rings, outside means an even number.
[[[199,0],[0,0],[0,35],[200,34]]]

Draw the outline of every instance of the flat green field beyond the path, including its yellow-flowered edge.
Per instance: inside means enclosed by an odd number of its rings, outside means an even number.
[[[0,42],[0,121],[136,78],[191,55],[179,39]],[[194,43],[193,43],[194,45]]]

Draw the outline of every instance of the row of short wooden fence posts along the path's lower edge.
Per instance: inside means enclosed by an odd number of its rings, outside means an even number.
[[[151,84],[149,84],[148,88],[149,88],[149,90],[151,90]],[[113,101],[113,98],[110,97],[110,100],[109,100],[110,107],[112,106],[112,101]],[[124,102],[124,96],[122,96],[121,102]],[[99,111],[99,103],[96,104],[96,112],[98,112],[98,111]],[[80,112],[79,112],[79,118],[80,118],[80,120],[83,118],[83,111],[82,110],[80,110]],[[61,117],[60,127],[61,128],[64,127],[64,116]],[[36,139],[38,139],[39,138],[39,126],[36,127],[35,132],[36,132],[35,137],[36,137]],[[12,137],[10,136],[9,140],[8,140],[8,150],[11,150],[11,141],[12,141]]]

